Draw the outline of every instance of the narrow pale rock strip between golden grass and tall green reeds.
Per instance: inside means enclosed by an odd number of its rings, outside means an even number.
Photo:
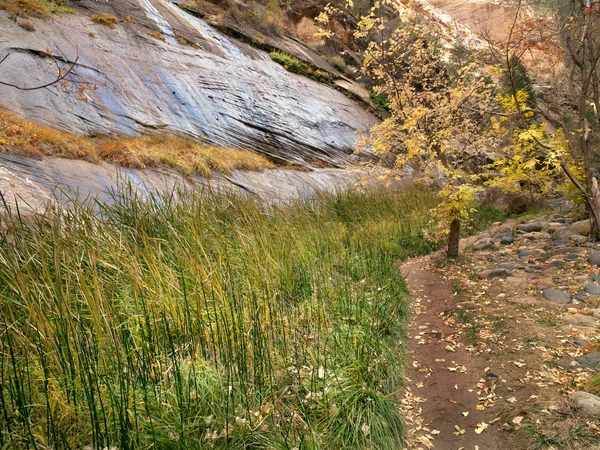
[[[216,190],[257,195],[269,202],[309,198],[317,192],[352,188],[363,175],[354,169],[316,169],[311,172],[269,169],[264,172],[215,173],[206,178],[184,177],[173,169],[128,169],[115,164],[0,154],[0,192],[10,207],[40,211],[46,203],[70,198],[97,198],[111,203],[129,186],[143,197],[181,189],[210,186]]]

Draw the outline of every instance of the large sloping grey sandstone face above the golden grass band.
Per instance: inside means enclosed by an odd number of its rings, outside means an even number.
[[[0,86],[1,108],[79,134],[172,133],[280,161],[334,165],[354,150],[356,130],[377,122],[343,93],[287,72],[168,0],[70,5],[77,15],[33,19],[34,32],[0,11],[0,58],[10,53],[0,65],[3,81],[40,85],[53,79],[55,63],[69,67],[79,56],[67,86]],[[91,22],[101,12],[131,21],[116,28]],[[165,42],[149,35],[156,32]]]

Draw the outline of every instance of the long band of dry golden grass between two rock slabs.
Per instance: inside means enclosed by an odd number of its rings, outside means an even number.
[[[210,177],[212,171],[259,171],[274,165],[249,151],[214,147],[177,136],[87,138],[27,122],[0,111],[0,152],[43,155],[91,162],[101,160],[125,167],[166,166],[185,175]]]

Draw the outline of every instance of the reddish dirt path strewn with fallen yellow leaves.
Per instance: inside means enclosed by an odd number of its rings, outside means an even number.
[[[429,258],[418,258],[401,267],[413,306],[407,403],[415,406],[408,411],[408,448],[506,449],[502,433],[489,425],[485,411],[477,409],[488,392],[485,363],[469,355],[468,346],[442,316],[462,299],[452,295],[450,283],[430,271],[427,263]]]

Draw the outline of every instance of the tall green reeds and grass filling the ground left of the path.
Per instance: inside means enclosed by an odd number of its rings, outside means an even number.
[[[176,192],[12,211],[0,448],[401,448],[407,291],[435,195]]]

